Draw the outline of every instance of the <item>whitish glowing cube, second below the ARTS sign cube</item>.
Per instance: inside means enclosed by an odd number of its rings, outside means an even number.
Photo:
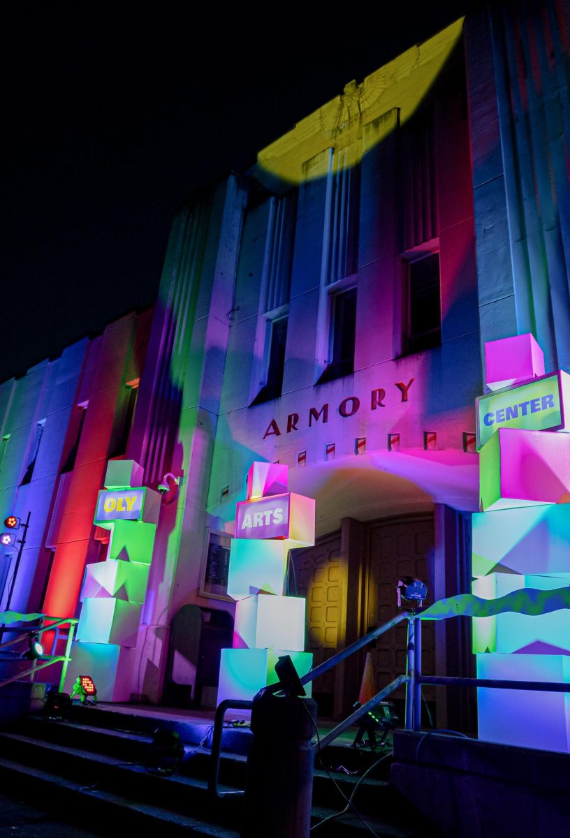
[[[234,648],[294,649],[305,644],[305,600],[303,597],[258,597],[241,599],[236,605]]]

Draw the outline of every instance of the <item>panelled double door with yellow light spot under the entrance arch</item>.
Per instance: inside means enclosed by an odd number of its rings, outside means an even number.
[[[307,601],[307,650],[314,665],[330,658],[397,613],[399,578],[417,577],[433,590],[433,515],[360,522],[345,519],[340,531],[314,547],[293,553],[297,591]],[[292,591],[293,592],[293,591]],[[433,623],[426,623],[422,643],[423,671],[433,673]],[[402,623],[371,647],[376,686],[406,671],[407,627]],[[314,683],[323,716],[343,716],[357,700],[365,652],[354,655]],[[403,691],[395,694],[403,698]]]

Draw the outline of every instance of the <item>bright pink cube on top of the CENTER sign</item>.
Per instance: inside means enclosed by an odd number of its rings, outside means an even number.
[[[544,354],[531,334],[485,344],[485,384],[490,390],[502,390],[540,375],[544,375]]]

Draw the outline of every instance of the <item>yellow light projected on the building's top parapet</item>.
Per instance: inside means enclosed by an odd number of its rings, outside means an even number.
[[[324,177],[330,161],[323,152],[330,147],[345,149],[345,166],[359,163],[363,154],[416,111],[459,41],[463,24],[460,18],[423,44],[407,49],[367,75],[362,84],[350,81],[342,95],[263,148],[257,165],[298,184]]]

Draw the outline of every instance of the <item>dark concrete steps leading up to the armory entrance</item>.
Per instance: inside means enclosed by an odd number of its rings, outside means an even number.
[[[231,712],[228,714],[231,715]],[[35,804],[49,804],[78,826],[112,838],[135,830],[158,830],[161,838],[216,835],[238,838],[246,777],[248,728],[227,727],[220,763],[220,790],[233,792],[212,799],[207,790],[211,725],[208,719],[153,715],[124,709],[74,706],[65,722],[27,716],[0,732],[0,779],[3,791]],[[166,776],[144,767],[153,732],[179,732],[184,762]],[[313,824],[343,810],[361,773],[379,754],[345,745],[329,747],[317,759]],[[362,838],[373,830],[381,838],[432,838],[438,833],[391,786],[389,758],[362,780],[354,810],[319,825],[319,838]],[[358,774],[345,773],[341,767]],[[329,768],[332,778],[325,770]],[[336,785],[335,785],[336,784]],[[342,794],[341,794],[342,792]],[[260,835],[262,825],[260,824]],[[295,836],[292,836],[295,838]]]

